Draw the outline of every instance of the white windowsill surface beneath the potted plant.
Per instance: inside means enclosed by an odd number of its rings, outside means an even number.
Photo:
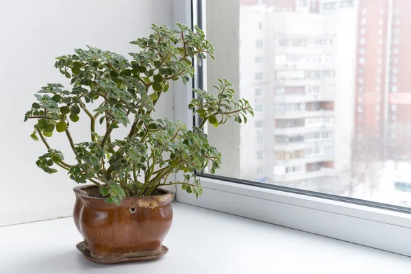
[[[0,273],[408,273],[411,258],[173,203],[174,220],[151,262],[101,265],[75,249],[73,219],[0,227]],[[407,239],[404,239],[407,240]]]

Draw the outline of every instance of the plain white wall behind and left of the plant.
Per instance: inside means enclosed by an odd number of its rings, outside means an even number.
[[[126,55],[128,42],[147,36],[151,23],[171,25],[168,0],[13,0],[0,1],[0,226],[72,214],[77,186],[64,171],[48,175],[36,166],[45,153],[34,142],[33,123],[23,116],[34,92],[50,82],[68,86],[54,69],[54,58],[92,45]],[[173,118],[172,90],[159,102],[159,117]],[[72,126],[73,138],[88,137],[88,124]],[[51,146],[70,153],[65,136]]]

